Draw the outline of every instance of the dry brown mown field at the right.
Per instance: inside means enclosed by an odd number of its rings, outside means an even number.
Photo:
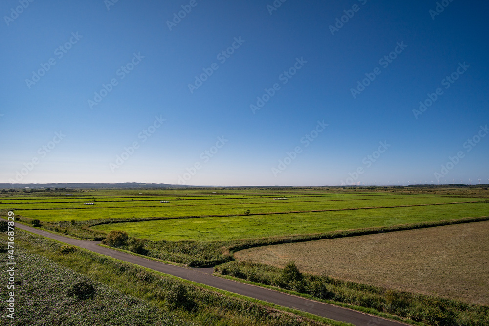
[[[489,305],[489,221],[270,245],[239,260]]]

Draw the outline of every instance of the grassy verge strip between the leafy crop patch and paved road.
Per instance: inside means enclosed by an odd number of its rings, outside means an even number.
[[[4,235],[0,238],[6,240]],[[224,292],[212,291],[209,287],[200,286],[196,283],[184,281],[123,261],[117,261],[110,257],[77,247],[73,247],[70,250],[63,250],[61,249],[63,245],[58,241],[46,239],[19,229],[16,230],[16,247],[20,247],[19,250],[23,248],[23,250],[28,251],[29,255],[41,256],[42,260],[50,261],[50,263],[61,266],[62,269],[68,271],[68,274],[72,273],[74,277],[83,275],[95,284],[96,289],[102,284],[117,291],[119,294],[112,293],[115,297],[125,295],[142,300],[146,304],[149,304],[148,307],[153,309],[152,311],[156,315],[171,317],[175,321],[175,325],[346,325],[326,319],[317,321],[301,315],[293,315],[285,312],[285,310],[280,311],[275,307],[262,305],[257,301],[245,297],[235,297],[224,294]],[[22,266],[24,266],[22,268],[35,268],[35,264]],[[49,278],[53,273],[34,272],[34,274],[37,274],[42,283],[39,292],[37,292],[39,293],[38,295],[41,295],[44,293],[43,289],[47,289],[49,282],[52,282]],[[32,280],[34,280],[33,277],[26,277],[22,281],[25,282],[23,286],[29,289],[28,286],[32,283]],[[57,278],[57,280],[60,279]],[[59,296],[59,300],[65,300],[63,294],[56,290],[56,286],[51,292],[53,292],[51,293],[52,295]],[[29,304],[36,302],[36,299],[32,297],[31,291],[25,292],[24,295]],[[102,298],[98,299],[102,300]],[[79,311],[76,310],[77,305],[73,305],[73,309],[70,307],[70,305],[65,306],[69,311],[69,315],[79,315]],[[122,304],[122,310],[125,308],[126,306]],[[104,311],[94,310],[97,311],[94,314],[92,311],[94,318],[107,317],[107,315],[104,315]],[[39,309],[37,313],[44,315],[46,318],[54,318],[53,311],[56,311],[54,307],[49,308],[49,305],[44,305],[43,309]],[[26,318],[30,318],[29,316],[28,314]],[[97,324],[104,323],[97,322],[86,325]],[[61,324],[54,323],[50,325],[72,324],[62,321]],[[121,322],[118,325],[128,324],[122,324]]]

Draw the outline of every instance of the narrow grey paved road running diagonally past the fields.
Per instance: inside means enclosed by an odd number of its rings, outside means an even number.
[[[70,239],[54,233],[36,229],[23,224],[16,224],[16,227],[50,239],[72,244],[90,251],[110,256],[121,261],[127,261],[146,268],[154,269],[158,272],[178,276],[182,279],[209,285],[218,289],[241,294],[247,297],[263,300],[269,303],[302,310],[314,315],[327,317],[333,320],[352,323],[358,326],[405,326],[406,324],[368,315],[355,310],[342,308],[332,304],[320,303],[301,297],[296,297],[286,293],[273,291],[267,288],[239,283],[236,281],[223,279],[218,276],[210,275],[211,270],[207,268],[184,268],[174,265],[152,261],[142,257],[126,254],[120,251],[98,246],[100,242]]]

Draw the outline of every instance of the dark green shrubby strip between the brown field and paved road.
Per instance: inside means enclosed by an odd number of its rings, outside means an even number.
[[[222,275],[309,294],[318,299],[372,308],[429,325],[489,325],[487,306],[342,281],[327,275],[301,274],[293,262],[281,269],[246,261],[231,261],[216,266],[214,270]]]

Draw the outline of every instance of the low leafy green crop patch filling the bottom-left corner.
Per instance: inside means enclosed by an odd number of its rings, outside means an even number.
[[[2,255],[2,264],[6,261],[6,255]],[[159,310],[18,245],[15,262],[17,284],[9,290],[15,293],[14,319],[10,320],[2,313],[2,325],[188,325],[168,311]],[[7,273],[1,273],[0,282],[7,284],[7,278]],[[94,285],[92,299],[69,296],[73,284],[80,281]],[[2,298],[6,298],[6,291],[2,289],[1,292]]]

